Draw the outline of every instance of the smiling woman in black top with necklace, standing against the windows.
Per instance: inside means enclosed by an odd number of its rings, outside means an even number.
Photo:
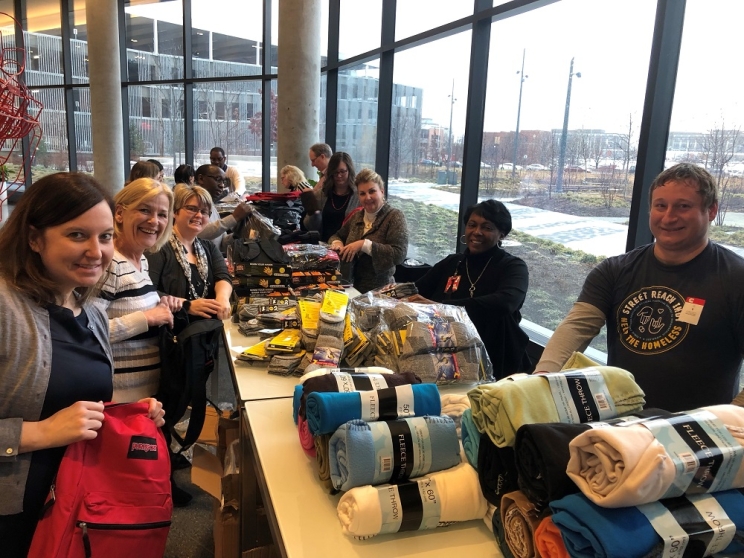
[[[488,351],[496,379],[532,368],[527,334],[519,327],[529,273],[527,264],[501,248],[511,231],[503,203],[486,200],[465,212],[464,254],[452,254],[416,281],[411,302],[462,306]]]

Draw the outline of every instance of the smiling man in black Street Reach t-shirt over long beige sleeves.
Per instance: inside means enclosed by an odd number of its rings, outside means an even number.
[[[649,407],[730,403],[744,354],[744,259],[708,239],[715,179],[682,163],[651,184],[656,241],[588,275],[537,364],[560,370],[607,324],[608,364],[633,373]]]

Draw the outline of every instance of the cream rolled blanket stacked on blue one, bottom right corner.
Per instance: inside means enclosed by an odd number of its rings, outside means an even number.
[[[546,528],[571,556],[742,556],[743,443],[734,405],[582,432],[566,468],[581,494],[551,502]]]

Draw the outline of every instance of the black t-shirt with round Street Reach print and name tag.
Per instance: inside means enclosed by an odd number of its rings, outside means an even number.
[[[730,403],[744,354],[744,259],[711,242],[678,266],[653,245],[608,258],[579,302],[607,317],[608,364],[633,373],[647,406],[683,411]]]

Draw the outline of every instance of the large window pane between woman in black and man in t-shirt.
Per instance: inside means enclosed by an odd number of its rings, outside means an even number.
[[[491,29],[478,193],[511,211],[505,246],[530,269],[522,315],[548,329],[591,268],[625,252],[655,6],[617,8],[612,26],[606,3],[571,0]]]

